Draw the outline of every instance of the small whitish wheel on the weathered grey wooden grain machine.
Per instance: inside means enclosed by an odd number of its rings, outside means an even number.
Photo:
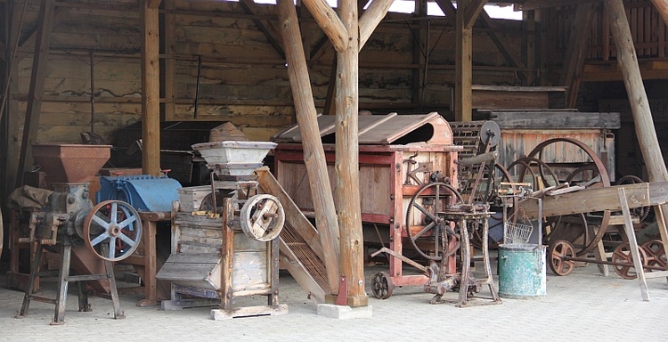
[[[281,233],[285,211],[281,202],[272,195],[255,195],[244,203],[239,221],[248,238],[265,242]]]

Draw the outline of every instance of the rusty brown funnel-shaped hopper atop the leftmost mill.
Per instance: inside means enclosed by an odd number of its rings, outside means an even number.
[[[51,183],[88,183],[111,155],[111,145],[36,143],[32,157]]]

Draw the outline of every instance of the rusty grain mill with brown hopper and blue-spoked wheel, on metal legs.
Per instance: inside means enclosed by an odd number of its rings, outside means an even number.
[[[28,315],[30,301],[37,300],[56,305],[52,324],[62,324],[69,281],[77,281],[79,311],[91,311],[82,282],[108,281],[114,318],[125,317],[120,311],[111,262],[123,260],[134,252],[142,236],[142,224],[137,212],[126,202],[108,200],[94,206],[90,199],[90,181],[110,158],[110,148],[110,145],[63,143],[33,145],[33,158],[45,170],[54,191],[48,204],[30,216],[29,237],[20,239],[37,242],[20,316]],[[61,246],[57,297],[37,297],[32,292],[42,248],[56,244]],[[69,275],[73,254],[77,264],[82,265],[77,275]],[[90,274],[101,262],[103,265],[96,269],[102,269],[103,273]],[[81,272],[86,265],[90,268]]]

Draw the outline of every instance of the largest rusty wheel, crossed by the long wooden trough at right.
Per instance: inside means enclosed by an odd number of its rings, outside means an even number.
[[[551,146],[550,145],[556,145]],[[539,143],[533,151],[529,152],[527,158],[540,159],[545,157],[545,150],[554,148],[557,150],[561,148],[566,151],[566,146],[573,145],[575,149],[581,152],[574,153],[587,159],[587,162],[569,161],[562,164],[572,167],[574,164],[580,164],[580,167],[574,167],[571,171],[566,171],[567,175],[564,177],[569,185],[582,185],[585,188],[607,187],[610,186],[610,177],[607,175],[607,169],[599,156],[591,150],[589,146],[572,138],[555,138],[549,139]],[[557,175],[560,175],[556,167],[561,162],[550,163],[551,168]],[[551,232],[550,240],[566,239],[574,243],[575,255],[586,256],[591,250],[596,248],[597,244],[606,233],[607,224],[610,221],[610,210],[605,210],[595,213],[582,213],[582,215],[574,215],[567,218],[562,217],[548,217],[547,223],[550,224]],[[561,222],[566,222],[563,226]],[[580,224],[578,224],[580,223]],[[595,229],[598,226],[598,230]],[[561,231],[561,232],[560,232]],[[576,238],[571,237],[576,231]]]

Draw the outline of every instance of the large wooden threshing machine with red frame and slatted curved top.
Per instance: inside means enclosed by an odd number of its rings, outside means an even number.
[[[334,184],[335,117],[320,116],[318,125],[330,183]],[[289,127],[273,140],[278,142],[274,172],[279,183],[306,216],[313,216],[298,126]],[[403,275],[402,263],[410,262],[406,257],[409,253],[419,255],[416,248],[428,256],[439,253],[433,235],[424,239],[417,234],[429,224],[429,217],[436,216],[437,191],[444,191],[445,201],[456,201],[452,192],[444,189],[445,185],[458,187],[456,162],[462,148],[452,143],[450,125],[436,112],[361,116],[359,143],[364,242],[395,256],[389,258],[389,272],[379,275],[379,281],[387,285],[383,296],[389,297],[395,286],[422,286],[428,282],[425,274]],[[423,215],[419,207],[434,213]],[[411,248],[403,248],[404,242]]]

